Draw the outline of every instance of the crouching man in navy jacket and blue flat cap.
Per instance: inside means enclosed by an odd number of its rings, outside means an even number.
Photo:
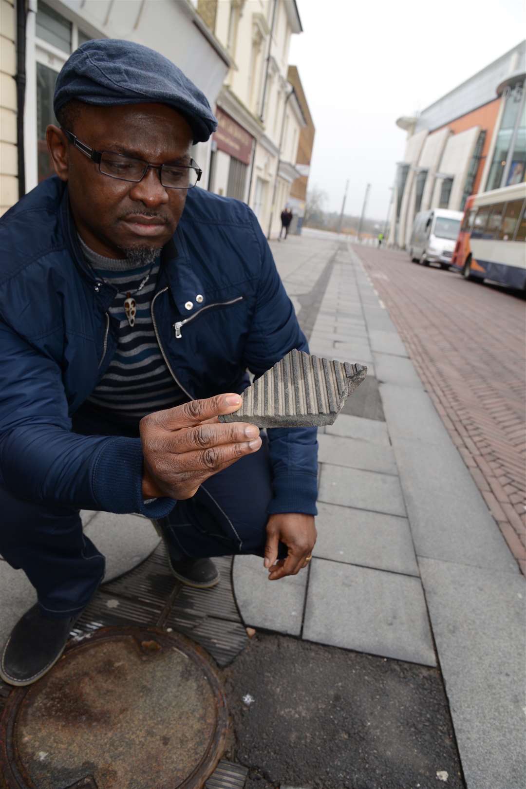
[[[58,660],[104,574],[79,510],[140,512],[173,574],[315,543],[315,430],[220,424],[307,344],[252,211],[202,189],[207,99],[158,53],[95,40],[65,63],[47,129],[56,176],[0,222],[0,554],[38,603],[3,649],[28,685]],[[125,540],[125,533],[122,535]]]

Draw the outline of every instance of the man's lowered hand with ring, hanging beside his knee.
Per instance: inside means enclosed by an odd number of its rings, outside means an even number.
[[[289,555],[276,562],[280,540],[289,548]],[[299,512],[270,515],[265,546],[265,567],[269,571],[269,581],[276,581],[285,575],[296,575],[303,567],[307,567],[307,558],[311,556],[315,542],[314,515]]]

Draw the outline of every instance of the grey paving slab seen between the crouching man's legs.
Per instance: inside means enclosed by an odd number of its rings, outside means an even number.
[[[84,532],[106,556],[105,581],[132,570],[159,545],[159,535],[147,518],[98,512]]]

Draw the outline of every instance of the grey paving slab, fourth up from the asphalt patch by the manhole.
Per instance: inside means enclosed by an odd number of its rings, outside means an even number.
[[[318,436],[318,460],[333,463],[334,466],[347,466],[350,469],[364,469],[383,474],[397,474],[397,464],[391,447],[370,443],[361,439],[343,436]]]

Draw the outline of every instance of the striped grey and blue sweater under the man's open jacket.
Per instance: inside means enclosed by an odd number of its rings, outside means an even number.
[[[146,285],[135,293],[150,270],[149,265],[131,268],[127,260],[98,255],[82,239],[80,244],[95,273],[119,291],[109,308],[117,350],[88,402],[126,422],[139,421],[152,411],[180,405],[186,396],[166,367],[151,320],[151,299],[155,293],[160,258],[155,261]],[[124,302],[128,292],[136,301],[133,327],[125,315]]]

